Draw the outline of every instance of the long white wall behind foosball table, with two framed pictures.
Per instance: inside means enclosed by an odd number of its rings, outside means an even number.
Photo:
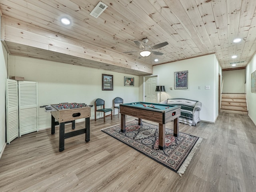
[[[138,76],[19,56],[10,56],[9,65],[10,77],[20,76],[26,81],[38,82],[39,106],[60,102],[94,105],[96,98],[102,98],[105,107],[112,108],[115,97],[123,98],[124,102],[138,101]],[[102,91],[102,74],[113,75],[113,91]],[[134,77],[134,86],[124,86],[124,76]],[[101,113],[97,113],[99,117]],[[91,119],[94,119],[94,107]],[[50,113],[39,108],[39,129],[49,127]]]

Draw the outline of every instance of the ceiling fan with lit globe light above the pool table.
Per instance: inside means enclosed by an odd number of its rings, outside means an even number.
[[[145,57],[145,58],[150,56],[150,54],[163,55],[163,53],[154,51],[154,50],[168,45],[168,42],[163,42],[163,43],[159,43],[159,44],[156,44],[151,47],[151,46],[147,45],[148,39],[143,39],[142,42],[144,43],[144,45],[139,41],[134,41],[134,43],[140,48],[140,51],[128,51],[128,52],[124,52],[124,53],[140,52],[140,56]],[[139,58],[141,58],[141,57],[139,57]]]

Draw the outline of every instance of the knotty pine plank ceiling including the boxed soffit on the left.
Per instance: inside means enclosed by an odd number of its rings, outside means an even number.
[[[134,75],[213,53],[222,68],[242,67],[256,52],[256,0],[102,0],[108,8],[94,18],[98,2],[1,0],[1,40],[12,55]],[[71,24],[61,24],[62,16]],[[145,63],[139,52],[123,53],[139,51],[134,40],[144,38],[150,46],[168,42],[155,50],[164,54]]]

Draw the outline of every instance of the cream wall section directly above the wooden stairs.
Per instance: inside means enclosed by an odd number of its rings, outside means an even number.
[[[244,69],[223,71],[222,93],[244,93]]]

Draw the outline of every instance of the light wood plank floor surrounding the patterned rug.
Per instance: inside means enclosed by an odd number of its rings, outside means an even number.
[[[47,129],[16,138],[0,159],[0,191],[256,191],[256,126],[248,115],[220,113],[215,124],[179,124],[181,132],[203,138],[182,177],[100,131],[115,124],[117,115],[106,123],[91,120],[90,142],[84,134],[68,138],[63,152],[58,126],[55,135]],[[83,126],[77,123],[76,129]]]

